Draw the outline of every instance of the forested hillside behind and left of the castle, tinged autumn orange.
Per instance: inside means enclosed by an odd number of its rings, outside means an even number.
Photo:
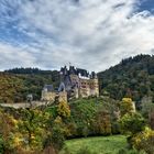
[[[0,74],[0,102],[22,102],[29,94],[40,100],[45,84],[59,84],[57,70],[40,70],[37,68],[15,68]]]

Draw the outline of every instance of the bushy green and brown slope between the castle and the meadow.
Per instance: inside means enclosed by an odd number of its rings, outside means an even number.
[[[68,105],[63,102],[45,109],[55,121],[63,123],[66,138],[109,135],[120,132],[118,101],[106,97],[87,98],[72,100]]]

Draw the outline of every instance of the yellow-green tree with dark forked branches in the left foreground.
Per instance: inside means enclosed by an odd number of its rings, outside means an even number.
[[[19,121],[19,131],[24,138],[23,144],[32,148],[43,150],[43,142],[50,134],[50,114],[40,110],[22,110],[22,119]]]

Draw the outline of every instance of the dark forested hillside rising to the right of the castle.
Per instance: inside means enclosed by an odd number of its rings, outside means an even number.
[[[131,97],[140,101],[144,96],[154,100],[154,55],[138,55],[98,74],[100,91],[121,100]]]

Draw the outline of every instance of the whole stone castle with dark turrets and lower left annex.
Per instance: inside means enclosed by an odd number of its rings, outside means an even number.
[[[70,98],[87,98],[99,96],[99,85],[97,74],[89,74],[86,69],[75,68],[74,66],[61,68],[61,84],[55,91],[52,85],[45,85],[42,90],[42,100],[46,101],[67,101]]]

